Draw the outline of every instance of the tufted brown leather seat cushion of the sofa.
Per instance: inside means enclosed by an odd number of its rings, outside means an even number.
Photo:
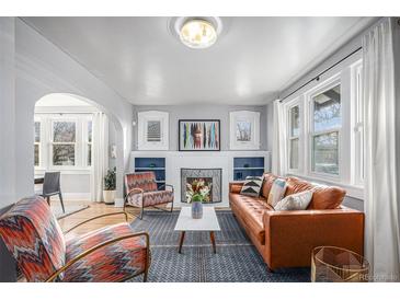
[[[247,230],[254,235],[261,244],[265,244],[265,230],[263,215],[273,208],[263,197],[249,197],[239,194],[230,195],[230,203],[235,214],[245,223]]]

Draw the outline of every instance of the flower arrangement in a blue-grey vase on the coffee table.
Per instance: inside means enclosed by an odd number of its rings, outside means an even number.
[[[186,184],[186,199],[192,204],[192,218],[203,218],[203,201],[209,200],[210,184],[204,180],[195,180]]]

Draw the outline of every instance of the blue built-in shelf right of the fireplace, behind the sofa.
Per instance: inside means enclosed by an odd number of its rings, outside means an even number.
[[[264,171],[264,157],[233,158],[233,181],[244,181],[247,176],[261,176]]]

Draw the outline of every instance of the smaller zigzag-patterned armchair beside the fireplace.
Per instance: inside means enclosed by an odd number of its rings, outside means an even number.
[[[162,188],[171,189],[162,189]],[[126,197],[124,201],[124,211],[127,206],[140,208],[141,219],[145,207],[156,207],[162,204],[171,203],[171,212],[173,210],[173,186],[164,184],[157,187],[156,174],[153,172],[138,172],[125,175]]]

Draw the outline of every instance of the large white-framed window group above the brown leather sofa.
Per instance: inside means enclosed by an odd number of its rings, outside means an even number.
[[[286,172],[363,198],[363,61],[353,57],[345,64],[284,102]]]

